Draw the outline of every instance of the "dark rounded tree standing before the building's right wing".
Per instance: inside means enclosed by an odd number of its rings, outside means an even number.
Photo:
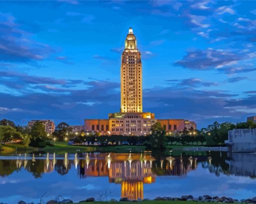
[[[151,126],[152,134],[149,135],[149,142],[151,147],[154,149],[165,149],[166,148],[166,132],[159,122]]]

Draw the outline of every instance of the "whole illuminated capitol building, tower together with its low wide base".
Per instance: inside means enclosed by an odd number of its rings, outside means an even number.
[[[148,135],[156,122],[160,122],[167,133],[185,128],[196,129],[193,121],[156,119],[154,113],[143,112],[142,74],[141,53],[137,48],[133,29],[130,28],[121,55],[120,112],[109,113],[108,119],[85,119],[85,131],[99,132],[102,135]]]

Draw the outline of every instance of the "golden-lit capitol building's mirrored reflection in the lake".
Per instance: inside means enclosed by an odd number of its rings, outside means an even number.
[[[108,176],[109,182],[121,185],[121,197],[138,200],[144,198],[144,184],[156,181],[155,172],[160,175],[184,175],[197,167],[197,159],[192,157],[167,157],[161,160],[160,166],[155,161],[151,154],[146,153],[87,153],[85,159],[79,161],[79,174],[81,177]],[[156,165],[153,165],[154,162]]]

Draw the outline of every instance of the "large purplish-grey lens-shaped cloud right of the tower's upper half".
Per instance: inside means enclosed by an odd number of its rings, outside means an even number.
[[[208,70],[221,68],[229,63],[240,60],[241,57],[229,50],[206,50],[188,51],[187,55],[174,63],[174,65],[182,66],[195,70]]]

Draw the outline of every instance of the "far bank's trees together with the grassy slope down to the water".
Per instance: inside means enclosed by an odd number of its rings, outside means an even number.
[[[101,135],[99,132],[73,132],[65,122],[60,123],[53,134],[47,134],[43,123],[36,122],[31,128],[16,126],[13,121],[0,121],[1,153],[13,151],[113,151],[140,152],[144,150],[180,149],[184,146],[224,145],[228,130],[256,128],[252,122],[236,125],[224,122],[208,125],[201,130],[184,129],[166,132],[160,123],[151,127],[151,134],[142,136]]]

